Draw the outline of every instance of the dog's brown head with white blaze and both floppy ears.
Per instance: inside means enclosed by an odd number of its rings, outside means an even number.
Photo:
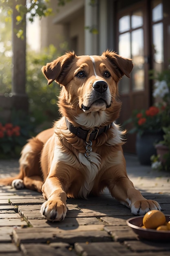
[[[117,84],[124,74],[130,77],[132,67],[131,60],[110,51],[101,56],[76,56],[68,52],[43,66],[42,72],[48,85],[55,81],[63,86],[59,101],[62,115],[89,128],[118,118],[121,103],[117,101]],[[79,120],[82,113],[86,118],[83,123]]]

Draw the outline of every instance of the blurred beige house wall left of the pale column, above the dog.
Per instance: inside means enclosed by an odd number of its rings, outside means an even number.
[[[40,48],[53,44],[61,54],[68,50],[84,54],[84,0],[72,0],[62,7],[51,0],[51,7],[57,12],[41,20]]]

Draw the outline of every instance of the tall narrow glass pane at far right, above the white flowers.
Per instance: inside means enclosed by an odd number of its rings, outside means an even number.
[[[163,64],[163,23],[153,25],[154,68],[161,71]]]

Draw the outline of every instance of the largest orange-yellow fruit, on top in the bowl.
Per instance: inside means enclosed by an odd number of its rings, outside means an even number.
[[[165,222],[165,215],[158,210],[148,211],[143,218],[143,225],[147,229],[156,229],[157,227],[164,225]]]

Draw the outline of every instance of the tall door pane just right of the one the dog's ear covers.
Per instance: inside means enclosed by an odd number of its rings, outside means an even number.
[[[144,32],[143,29],[132,31],[132,90],[144,90]]]

